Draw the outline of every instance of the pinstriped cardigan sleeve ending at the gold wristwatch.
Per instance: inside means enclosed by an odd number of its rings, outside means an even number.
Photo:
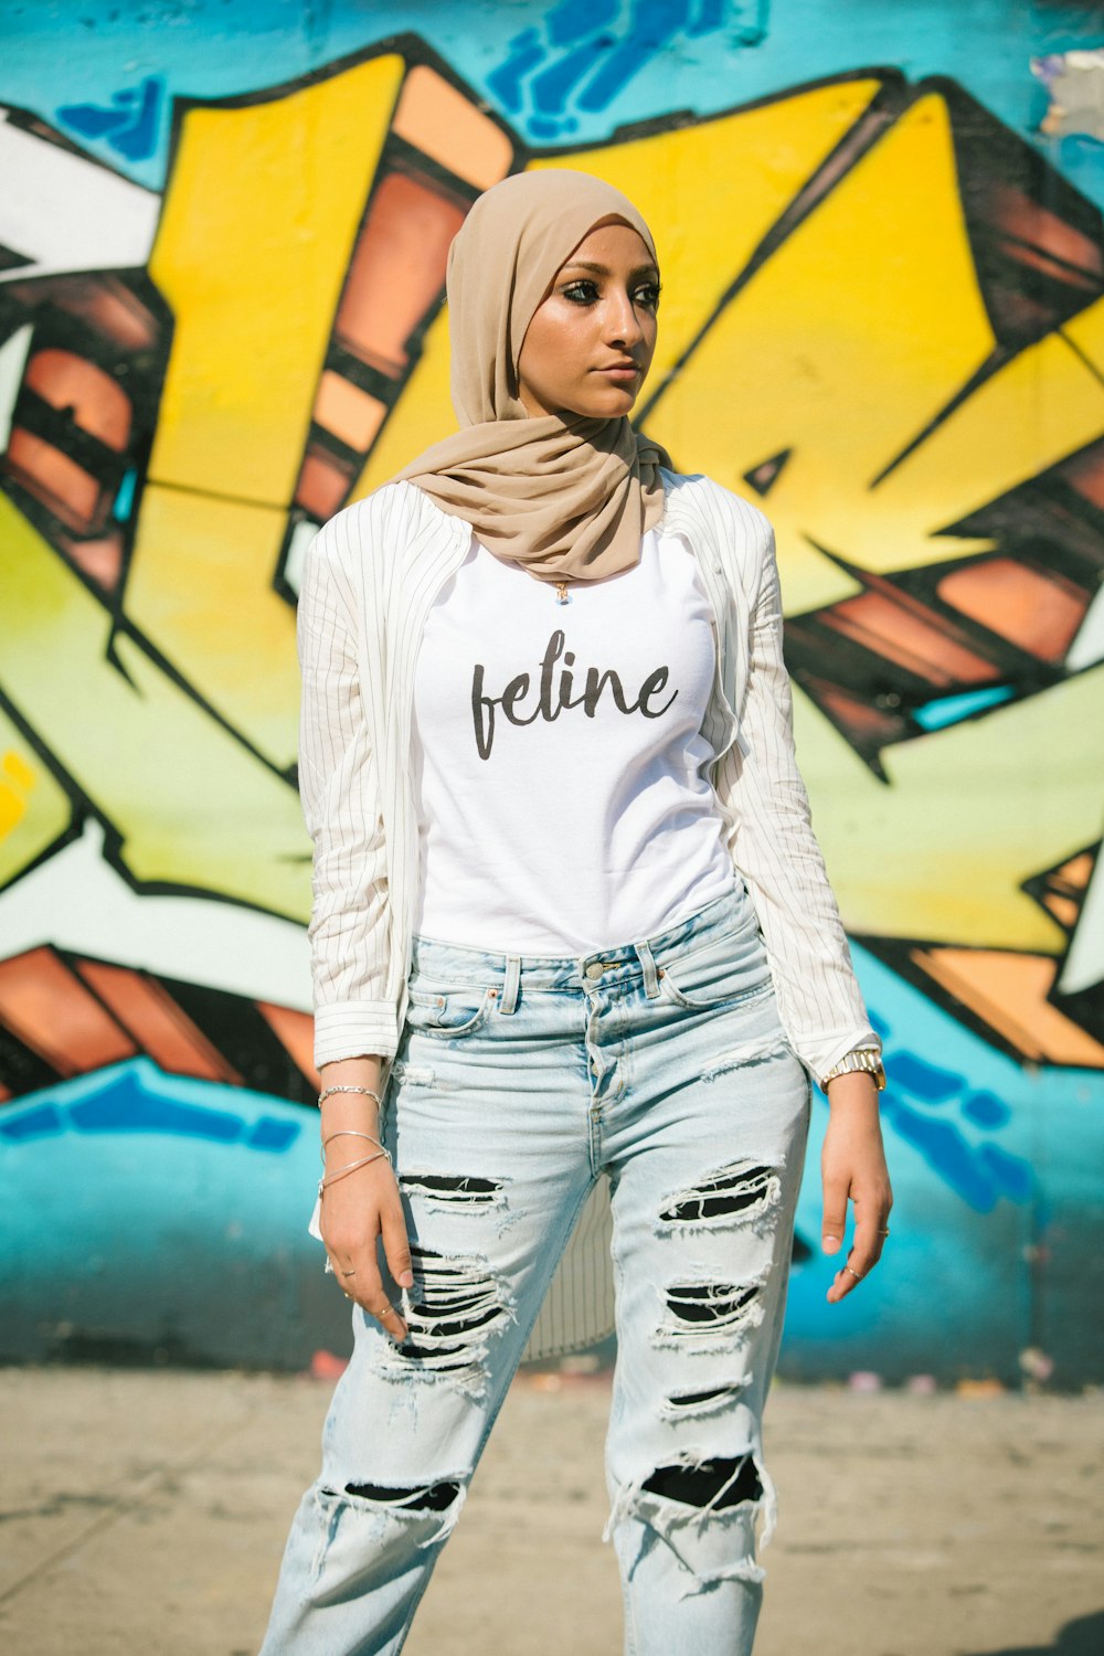
[[[718,788],[730,808],[730,851],[763,932],[783,1027],[819,1080],[852,1047],[881,1048],[881,1040],[813,833],[793,739],[775,532],[761,512],[755,518],[763,540],[746,692],[740,735],[725,755]]]

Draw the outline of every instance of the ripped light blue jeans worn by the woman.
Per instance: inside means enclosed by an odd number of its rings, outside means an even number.
[[[402,1649],[601,1177],[617,1295],[602,1540],[624,1649],[746,1656],[811,1090],[743,883],[591,956],[415,937],[409,987],[381,1134],[414,1254],[414,1287],[386,1265],[384,1287],[409,1336],[354,1307],[262,1656]]]

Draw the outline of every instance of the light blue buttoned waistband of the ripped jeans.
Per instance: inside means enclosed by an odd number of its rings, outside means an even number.
[[[435,982],[482,985],[523,982],[526,989],[586,989],[598,982],[609,985],[641,974],[649,980],[657,964],[662,965],[665,960],[674,964],[679,956],[692,954],[720,936],[753,927],[751,899],[746,884],[737,876],[730,891],[687,914],[685,919],[675,921],[674,926],[589,954],[510,954],[415,934],[410,977],[424,974]]]

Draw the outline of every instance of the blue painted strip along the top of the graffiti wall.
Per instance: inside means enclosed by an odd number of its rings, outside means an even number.
[[[591,7],[593,31],[611,28],[607,0]],[[559,12],[559,8],[554,8]],[[548,66],[553,51],[548,0],[511,0],[506,56],[493,41],[500,15],[492,8],[467,13],[440,0],[407,0],[402,28],[420,35],[477,96],[487,96],[503,113],[523,108],[528,73]],[[573,17],[558,33],[571,33]],[[627,15],[617,0],[616,15]],[[852,73],[864,65],[895,65],[910,79],[945,75],[983,99],[998,119],[1031,137],[1091,199],[1104,202],[1104,146],[1091,141],[1036,136],[1046,93],[1031,75],[1033,55],[1099,45],[1094,8],[1053,0],[1043,10],[1028,8],[1018,23],[995,26],[995,8],[957,5],[955,0],[915,0],[892,7],[886,0],[851,0],[842,13],[823,0],[778,0],[737,5],[733,0],[697,0],[677,46],[654,56],[629,83],[609,111],[586,113],[578,104],[578,141],[601,142],[614,126],[652,119],[692,108],[705,119],[737,103],[775,96],[808,79]],[[599,23],[598,18],[602,18]],[[63,108],[106,108],[113,113],[119,63],[132,60],[137,71],[157,75],[167,88],[187,88],[192,98],[227,98],[263,93],[301,75],[323,70],[359,51],[372,50],[396,30],[394,7],[382,0],[329,0],[324,55],[318,31],[300,26],[300,12],[288,0],[218,0],[189,10],[187,28],[151,30],[146,0],[81,0],[79,23],[65,7],[28,7],[25,0],[0,0],[0,103],[31,109],[46,121]],[[480,26],[483,23],[487,26]],[[1005,20],[1006,22],[1006,20]],[[518,41],[525,40],[525,61]],[[545,45],[543,41],[550,41]],[[568,50],[578,40],[568,43]],[[490,48],[490,51],[488,51]],[[748,50],[753,48],[753,50]],[[513,91],[510,86],[513,84]],[[530,131],[526,123],[521,123]],[[106,139],[89,139],[136,181],[161,189],[169,159],[170,123],[157,123],[154,152],[127,161]],[[73,131],[70,128],[70,131]],[[538,136],[538,134],[533,134]]]

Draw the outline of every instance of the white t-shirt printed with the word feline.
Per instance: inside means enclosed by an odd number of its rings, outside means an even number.
[[[732,889],[702,735],[708,598],[675,537],[556,588],[472,535],[414,676],[414,931],[571,956],[650,936]]]

